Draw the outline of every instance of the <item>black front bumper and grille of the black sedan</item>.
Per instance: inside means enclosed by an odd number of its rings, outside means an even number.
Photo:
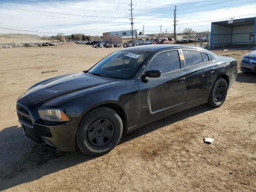
[[[22,98],[24,101],[26,98]],[[23,128],[23,134],[36,144],[58,151],[74,151],[76,129],[79,119],[68,122],[50,122],[41,120],[35,106],[26,102],[17,102],[17,114]]]

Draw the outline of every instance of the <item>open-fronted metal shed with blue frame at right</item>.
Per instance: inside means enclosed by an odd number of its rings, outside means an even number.
[[[256,43],[256,17],[212,22],[211,47]]]

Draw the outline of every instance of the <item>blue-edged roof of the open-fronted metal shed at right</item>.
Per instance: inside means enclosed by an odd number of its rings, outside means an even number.
[[[250,17],[250,18],[234,19],[233,23],[230,23],[230,24],[228,23],[228,20],[212,22],[212,24],[222,25],[226,27],[239,27],[239,26],[246,26],[246,25],[254,25],[255,19],[256,17]]]

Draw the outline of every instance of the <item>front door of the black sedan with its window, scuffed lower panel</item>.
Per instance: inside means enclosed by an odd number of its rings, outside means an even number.
[[[161,76],[138,82],[141,122],[184,107],[186,71],[179,54],[178,49],[160,52],[146,66],[146,70],[160,70]]]

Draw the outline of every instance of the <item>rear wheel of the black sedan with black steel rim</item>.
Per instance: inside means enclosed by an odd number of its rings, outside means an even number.
[[[208,98],[208,105],[213,108],[222,106],[226,99],[227,93],[228,84],[226,80],[224,78],[218,78],[212,86],[212,90]]]

